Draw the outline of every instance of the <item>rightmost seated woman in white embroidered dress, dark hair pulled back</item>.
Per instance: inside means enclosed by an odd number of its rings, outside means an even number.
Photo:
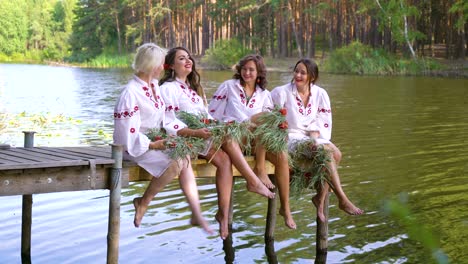
[[[341,187],[337,164],[341,160],[340,150],[330,141],[332,129],[332,114],[330,99],[327,92],[315,85],[318,79],[317,64],[310,59],[299,60],[294,67],[291,83],[276,87],[271,97],[276,105],[286,108],[286,120],[289,125],[288,145],[293,148],[300,140],[315,138],[317,144],[332,152],[331,162],[328,164],[329,178],[335,186],[335,194],[339,200],[339,207],[351,215],[360,215],[363,210],[356,207],[346,196]],[[329,191],[328,184],[319,189],[312,198],[317,207],[317,216],[325,221],[324,199]]]

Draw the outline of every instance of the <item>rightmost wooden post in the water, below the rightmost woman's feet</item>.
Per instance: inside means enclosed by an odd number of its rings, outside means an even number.
[[[316,256],[315,264],[327,263],[328,253],[328,205],[329,205],[330,193],[325,196],[323,205],[323,214],[325,215],[325,221],[322,222],[317,217],[317,238],[316,238]]]

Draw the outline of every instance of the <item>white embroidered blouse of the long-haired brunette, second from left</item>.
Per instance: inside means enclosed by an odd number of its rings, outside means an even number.
[[[161,85],[161,94],[166,103],[166,112],[172,114],[185,111],[192,114],[206,114],[213,119],[203,103],[203,99],[186,83],[179,80],[165,82]]]

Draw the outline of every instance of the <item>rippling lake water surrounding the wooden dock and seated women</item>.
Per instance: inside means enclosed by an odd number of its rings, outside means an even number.
[[[204,71],[202,84],[210,95],[231,76]],[[110,143],[113,106],[130,77],[121,69],[0,64],[0,113],[16,119],[3,121],[0,143],[22,146],[23,130],[38,131],[36,146]],[[290,78],[270,73],[269,87]],[[433,263],[431,239],[439,256],[468,263],[468,81],[324,74],[319,85],[332,100],[343,188],[366,211],[348,216],[331,196],[328,263]],[[42,125],[30,121],[38,116],[45,118]],[[71,121],[50,121],[57,116]],[[266,263],[267,201],[247,192],[243,180],[236,182],[234,262]],[[217,230],[214,181],[199,179],[198,185],[204,215]],[[145,186],[132,183],[122,190],[120,263],[225,262],[222,240],[188,224],[190,212],[176,181],[134,228],[131,201]],[[278,218],[274,248],[280,263],[315,259],[312,195],[291,201],[297,230]],[[393,199],[402,201],[409,218],[386,212]],[[108,191],[39,194],[33,200],[33,263],[105,263]],[[20,237],[21,196],[0,197],[0,263],[21,262]]]

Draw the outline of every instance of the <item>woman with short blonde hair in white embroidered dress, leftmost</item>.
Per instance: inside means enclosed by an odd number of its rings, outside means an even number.
[[[172,160],[163,152],[166,149],[164,140],[151,142],[145,135],[152,128],[164,128],[168,134],[176,135],[174,127],[185,126],[165,113],[165,103],[160,96],[156,78],[163,70],[165,54],[164,49],[153,43],[143,44],[137,49],[132,65],[135,74],[122,90],[114,110],[114,143],[124,145],[124,158],[135,161],[153,175],[143,197],[133,200],[134,225],[140,226],[154,196],[179,175],[180,186],[192,210],[190,223],[212,233],[201,213],[190,158]]]

